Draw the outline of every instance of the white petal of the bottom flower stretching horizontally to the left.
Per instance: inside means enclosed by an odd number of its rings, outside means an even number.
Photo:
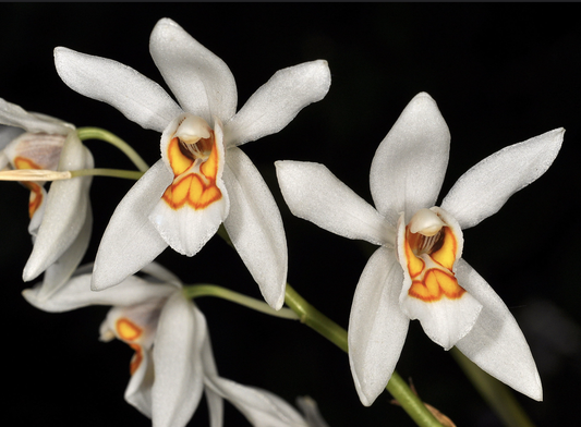
[[[38,298],[41,286],[43,283],[38,283],[22,294],[35,307],[51,313],[70,312],[89,305],[130,306],[175,292],[175,286],[171,284],[149,283],[136,276],[129,277],[120,286],[95,292],[90,290],[89,273],[74,276],[49,298]]]

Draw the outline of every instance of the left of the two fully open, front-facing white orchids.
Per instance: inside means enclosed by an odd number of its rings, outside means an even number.
[[[259,172],[239,148],[285,127],[330,86],[326,61],[278,71],[237,113],[226,63],[169,19],[149,50],[178,105],[157,83],[105,58],[55,50],[63,82],[161,132],[161,159],[130,190],[102,236],[94,289],[114,285],[168,245],[195,255],[223,225],[266,302],[285,300],[287,244],[280,212]]]

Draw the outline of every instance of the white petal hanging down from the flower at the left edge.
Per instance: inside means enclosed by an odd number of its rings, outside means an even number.
[[[71,132],[61,151],[59,170],[93,168],[93,156]],[[33,252],[24,267],[23,279],[38,277],[73,244],[78,236],[87,209],[90,209],[88,190],[92,178],[56,181],[46,198],[43,222],[38,229]]]

